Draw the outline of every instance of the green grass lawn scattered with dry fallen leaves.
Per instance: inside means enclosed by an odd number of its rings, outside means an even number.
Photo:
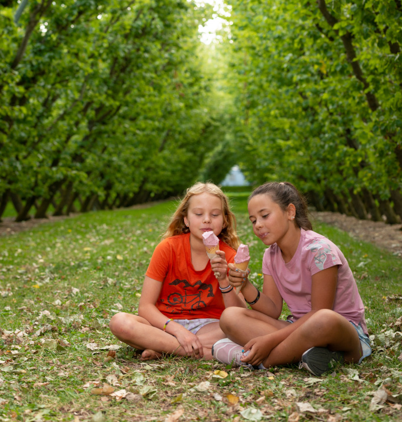
[[[264,245],[245,197],[234,194],[233,206],[261,287]],[[175,206],[89,213],[0,238],[0,420],[402,420],[402,260],[330,226],[315,230],[348,258],[375,335],[362,365],[315,378],[296,366],[250,372],[189,358],[142,363],[114,338],[109,320],[119,310],[137,312]]]

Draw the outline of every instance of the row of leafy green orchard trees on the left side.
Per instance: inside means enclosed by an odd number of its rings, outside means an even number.
[[[0,218],[11,204],[17,221],[130,206],[198,178],[226,119],[199,55],[211,12],[186,0],[2,2]]]

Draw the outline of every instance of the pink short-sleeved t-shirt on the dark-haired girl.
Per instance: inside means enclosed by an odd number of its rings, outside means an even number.
[[[338,266],[338,283],[333,310],[355,325],[361,325],[367,334],[364,305],[348,261],[330,240],[312,230],[300,229],[296,253],[290,262],[283,261],[276,243],[265,250],[262,272],[271,275],[293,319],[311,311],[312,276],[319,271]]]

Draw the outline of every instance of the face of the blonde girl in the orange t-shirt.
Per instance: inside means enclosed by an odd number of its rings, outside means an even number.
[[[184,223],[191,235],[198,239],[202,239],[203,233],[210,231],[218,236],[224,226],[221,199],[207,192],[191,196]]]

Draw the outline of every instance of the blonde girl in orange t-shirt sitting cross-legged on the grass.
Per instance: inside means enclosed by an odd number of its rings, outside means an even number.
[[[211,261],[203,244],[207,231],[220,239]],[[213,183],[188,188],[152,255],[138,315],[115,314],[112,333],[142,351],[142,360],[162,354],[212,359],[212,345],[225,337],[219,327],[222,311],[246,306],[227,275],[238,246],[236,219],[223,191]]]

